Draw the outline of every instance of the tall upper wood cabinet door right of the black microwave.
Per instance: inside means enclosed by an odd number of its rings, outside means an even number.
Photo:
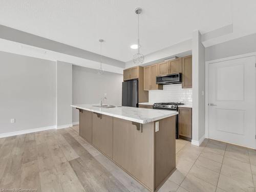
[[[182,88],[192,88],[192,56],[182,58]]]

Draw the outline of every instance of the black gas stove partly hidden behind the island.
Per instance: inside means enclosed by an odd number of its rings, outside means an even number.
[[[169,102],[169,103],[154,103],[153,109],[156,110],[173,110],[178,111],[178,105],[182,105],[184,103],[178,102]],[[176,139],[179,138],[179,124],[178,124],[178,115],[176,115]]]

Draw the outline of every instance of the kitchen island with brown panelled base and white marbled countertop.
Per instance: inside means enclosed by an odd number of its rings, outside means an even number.
[[[178,112],[71,105],[79,110],[79,135],[150,191],[157,191],[176,169]]]

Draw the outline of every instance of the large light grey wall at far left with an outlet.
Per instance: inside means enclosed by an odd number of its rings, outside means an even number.
[[[55,62],[0,52],[0,67],[0,134],[55,125]]]

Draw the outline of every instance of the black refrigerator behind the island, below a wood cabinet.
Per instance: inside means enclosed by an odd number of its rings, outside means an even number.
[[[122,106],[138,107],[138,80],[122,82]]]

